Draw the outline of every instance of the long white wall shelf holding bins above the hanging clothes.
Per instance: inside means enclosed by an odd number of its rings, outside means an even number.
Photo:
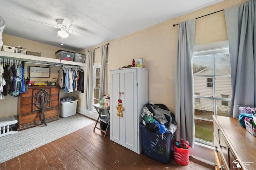
[[[34,56],[34,55],[22,55],[22,54],[18,54],[18,53],[10,53],[10,52],[5,52],[5,51],[0,51],[0,58],[27,61],[27,62],[33,62],[33,63],[38,63],[38,64],[42,63],[42,64],[53,64],[54,65],[57,63],[58,65],[81,66],[81,68],[84,68],[86,66],[85,63],[52,59],[52,58],[47,58],[47,57],[38,57],[38,56]]]

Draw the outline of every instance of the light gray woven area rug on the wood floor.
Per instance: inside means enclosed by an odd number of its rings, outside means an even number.
[[[75,114],[38,126],[0,137],[0,163],[55,141],[92,123],[87,117]]]

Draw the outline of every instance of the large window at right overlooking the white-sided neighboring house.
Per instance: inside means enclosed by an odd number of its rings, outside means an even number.
[[[212,115],[228,116],[232,96],[228,48],[194,52],[193,78],[195,141],[213,145]]]

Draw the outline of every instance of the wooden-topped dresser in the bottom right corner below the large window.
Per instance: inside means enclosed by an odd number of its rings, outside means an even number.
[[[215,169],[255,170],[256,137],[246,131],[236,118],[214,115],[213,119]]]

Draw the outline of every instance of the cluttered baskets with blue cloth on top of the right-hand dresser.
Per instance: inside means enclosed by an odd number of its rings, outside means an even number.
[[[256,136],[256,107],[252,105],[236,105],[239,109],[238,121],[248,132]]]

